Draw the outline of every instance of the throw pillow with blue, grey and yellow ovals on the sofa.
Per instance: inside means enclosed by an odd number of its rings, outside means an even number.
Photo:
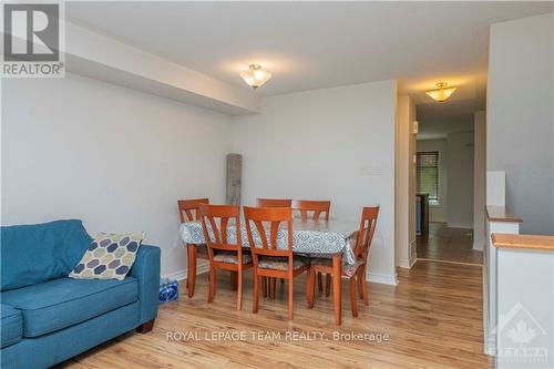
[[[99,233],[70,278],[122,280],[135,262],[144,233]]]

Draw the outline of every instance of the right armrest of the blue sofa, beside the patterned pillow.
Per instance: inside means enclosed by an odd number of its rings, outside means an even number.
[[[160,294],[160,247],[142,245],[129,275],[138,279],[140,324],[156,318]]]

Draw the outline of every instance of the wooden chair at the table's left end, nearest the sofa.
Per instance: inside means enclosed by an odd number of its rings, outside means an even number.
[[[209,198],[192,198],[192,199],[177,201],[178,216],[181,223],[199,222],[201,204],[209,204]],[[187,277],[186,277],[186,288],[188,289],[188,297],[193,297],[194,286],[196,285],[196,260],[209,259],[207,253],[207,246],[205,244],[201,245],[186,244],[186,255],[187,255],[187,266],[188,266]]]

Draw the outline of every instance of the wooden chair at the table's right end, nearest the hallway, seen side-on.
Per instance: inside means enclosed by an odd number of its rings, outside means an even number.
[[[371,240],[373,239],[373,234],[376,232],[377,217],[379,215],[379,206],[363,207],[361,212],[360,227],[358,234],[356,235],[356,246],[353,254],[356,256],[356,270],[352,276],[349,277],[350,285],[350,305],[352,308],[352,316],[358,316],[358,306],[356,304],[356,280],[358,279],[358,293],[360,298],[363,299],[366,305],[369,305],[368,287],[366,283],[366,269],[368,263],[369,247],[371,246]],[[308,276],[308,308],[314,307],[314,291],[315,291],[315,279],[316,273],[328,273],[331,274],[332,278],[341,278],[342,276],[337,276],[334,274],[332,260],[329,258],[311,258],[310,269]],[[345,273],[342,273],[345,275]],[[334,294],[337,291],[334,289]]]

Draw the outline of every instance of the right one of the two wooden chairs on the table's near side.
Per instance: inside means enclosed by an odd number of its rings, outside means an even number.
[[[293,209],[290,207],[244,207],[246,232],[254,259],[254,305],[258,312],[259,279],[264,277],[288,279],[288,318],[293,319],[294,277],[308,270],[308,262],[293,254]],[[277,248],[279,226],[286,224],[287,248]],[[257,238],[254,237],[253,225]],[[269,226],[269,228],[266,228]],[[256,243],[256,240],[258,240]]]

